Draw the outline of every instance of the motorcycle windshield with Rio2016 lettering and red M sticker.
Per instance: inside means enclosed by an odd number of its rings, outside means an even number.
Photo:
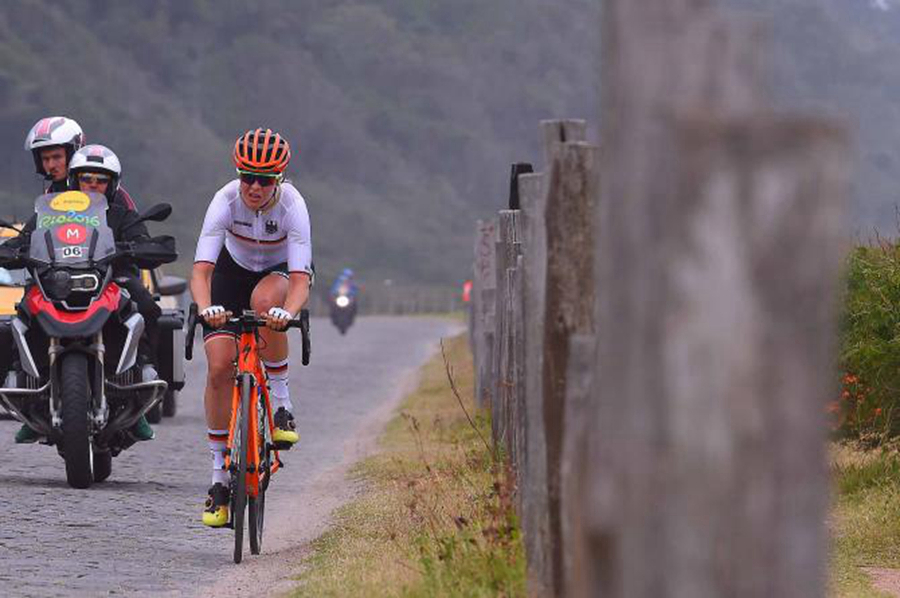
[[[34,201],[37,222],[31,234],[34,260],[79,267],[116,251],[106,223],[106,197],[98,193],[48,193]]]

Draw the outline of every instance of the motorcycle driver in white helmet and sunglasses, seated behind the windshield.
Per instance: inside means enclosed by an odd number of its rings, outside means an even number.
[[[138,219],[138,214],[127,207],[127,203],[113,201],[120,191],[119,181],[122,176],[122,165],[112,150],[103,145],[87,145],[79,149],[72,156],[68,167],[69,185],[85,193],[93,192],[105,195],[108,208],[106,212],[107,224],[113,231],[116,241],[136,241],[149,237],[144,223],[133,224]],[[133,205],[133,204],[132,204]],[[13,247],[28,247],[31,232],[36,225],[36,217],[28,221],[19,237],[10,239],[7,243]],[[156,355],[156,339],[159,337],[158,321],[162,310],[153,300],[152,295],[142,284],[140,272],[137,267],[116,266],[113,274],[116,282],[126,289],[131,299],[137,305],[138,311],[144,318],[145,333],[141,336],[138,347],[138,360],[143,371],[143,379],[154,380],[158,377],[153,366],[153,357]],[[144,416],[131,427],[130,432],[135,440],[152,440],[153,428]],[[18,444],[36,442],[38,433],[27,424],[23,424],[16,433],[15,441]]]

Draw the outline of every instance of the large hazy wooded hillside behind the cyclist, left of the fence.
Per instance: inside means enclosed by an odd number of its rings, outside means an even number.
[[[16,2],[0,14],[0,200],[39,191],[28,127],[65,114],[171,201],[188,259],[237,133],[299,152],[319,271],[451,283],[537,121],[596,110],[588,0]],[[587,17],[587,18],[586,18]]]

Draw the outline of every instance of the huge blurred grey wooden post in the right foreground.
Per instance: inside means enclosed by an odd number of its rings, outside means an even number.
[[[768,113],[756,30],[710,4],[604,4],[574,596],[824,593],[846,141]]]

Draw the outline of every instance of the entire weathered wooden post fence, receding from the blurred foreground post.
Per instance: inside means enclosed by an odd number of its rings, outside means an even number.
[[[602,156],[542,123],[544,172],[476,229],[529,594],[821,596],[847,140],[772,113],[755,25],[604,11]]]

